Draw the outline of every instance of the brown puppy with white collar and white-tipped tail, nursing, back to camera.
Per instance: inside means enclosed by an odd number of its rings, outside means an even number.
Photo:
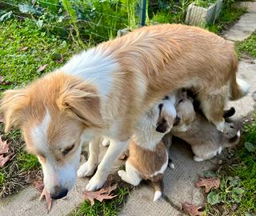
[[[142,179],[150,180],[154,186],[154,201],[162,196],[168,153],[161,140],[174,124],[174,102],[175,97],[170,96],[142,117],[130,142],[126,171],[118,171],[123,181],[134,186],[138,186]]]

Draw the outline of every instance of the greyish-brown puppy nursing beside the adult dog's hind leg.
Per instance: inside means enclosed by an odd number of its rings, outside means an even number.
[[[194,160],[201,162],[221,154],[222,149],[234,147],[240,140],[240,131],[234,123],[225,122],[225,133],[194,111],[191,98],[180,98],[176,106],[179,117],[170,134],[188,142],[194,152]]]

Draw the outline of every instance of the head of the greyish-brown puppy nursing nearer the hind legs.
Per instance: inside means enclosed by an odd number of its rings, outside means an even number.
[[[193,99],[183,96],[178,98],[176,102],[177,118],[174,126],[189,126],[194,122],[195,111],[193,106]]]

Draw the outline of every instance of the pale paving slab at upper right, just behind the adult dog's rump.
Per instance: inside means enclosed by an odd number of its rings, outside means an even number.
[[[224,32],[223,37],[231,41],[242,41],[250,37],[256,30],[256,14],[246,13],[230,28]]]

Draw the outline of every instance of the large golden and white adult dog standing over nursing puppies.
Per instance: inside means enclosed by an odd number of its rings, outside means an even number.
[[[75,55],[24,89],[7,90],[1,110],[6,131],[22,128],[27,149],[42,163],[50,196],[62,198],[74,186],[82,142],[98,151],[100,137],[113,141],[86,186],[96,190],[142,114],[173,90],[194,90],[206,118],[223,130],[226,98],[247,90],[237,82],[237,68],[233,46],[216,34],[193,26],[148,26]],[[83,165],[85,175],[96,169],[94,156]]]

